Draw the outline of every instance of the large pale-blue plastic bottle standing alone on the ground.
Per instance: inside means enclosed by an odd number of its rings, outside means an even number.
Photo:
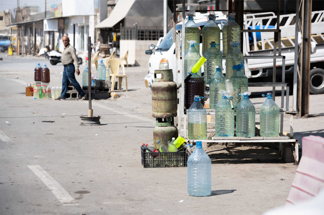
[[[212,193],[212,162],[201,141],[188,158],[187,183],[190,196],[209,196]]]

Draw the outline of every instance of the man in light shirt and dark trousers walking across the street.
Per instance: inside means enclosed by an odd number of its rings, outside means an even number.
[[[77,62],[76,51],[75,48],[70,45],[70,39],[67,36],[63,37],[63,44],[64,44],[64,51],[62,53],[62,64],[64,66],[63,70],[63,79],[62,79],[62,93],[60,97],[55,100],[65,100],[65,94],[67,91],[67,87],[71,83],[77,92],[79,93],[80,97],[79,100],[87,99],[86,93],[82,90],[79,83],[75,80],[74,72],[79,75],[79,64]],[[75,67],[74,63],[75,62]]]

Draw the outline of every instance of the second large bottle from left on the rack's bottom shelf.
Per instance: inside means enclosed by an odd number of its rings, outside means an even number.
[[[234,110],[232,110],[227,92],[220,90],[223,95],[215,108],[215,136],[233,137],[234,136]]]

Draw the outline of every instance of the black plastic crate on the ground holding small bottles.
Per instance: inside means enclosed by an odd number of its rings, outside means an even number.
[[[187,150],[183,146],[176,152],[146,152],[141,146],[141,154],[144,168],[187,167]]]

